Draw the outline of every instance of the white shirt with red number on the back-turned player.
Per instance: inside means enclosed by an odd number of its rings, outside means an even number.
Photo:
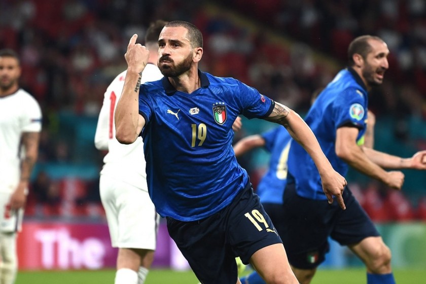
[[[146,162],[142,137],[129,145],[120,144],[115,137],[114,112],[124,87],[126,70],[120,73],[105,91],[102,108],[96,126],[95,146],[108,150],[103,158],[101,174],[116,177],[137,188],[148,191]],[[147,64],[142,72],[141,84],[159,80],[163,77],[154,64]]]

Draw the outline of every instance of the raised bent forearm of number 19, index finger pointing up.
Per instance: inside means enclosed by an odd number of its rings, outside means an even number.
[[[136,39],[137,34],[134,34],[124,55],[127,74],[114,118],[116,138],[122,144],[133,143],[145,125],[144,117],[139,115],[139,88],[150,52],[145,46],[136,44]]]

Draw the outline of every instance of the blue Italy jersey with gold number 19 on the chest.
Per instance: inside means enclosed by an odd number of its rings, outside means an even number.
[[[164,77],[139,91],[147,181],[162,217],[195,221],[228,205],[248,183],[232,149],[239,114],[269,116],[273,101],[232,78],[198,72],[201,87],[177,91]]]

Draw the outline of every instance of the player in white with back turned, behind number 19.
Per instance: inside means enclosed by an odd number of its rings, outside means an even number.
[[[163,77],[157,67],[158,37],[166,23],[158,20],[147,29],[145,46],[151,52],[140,84]],[[114,111],[125,77],[126,70],[105,92],[95,146],[108,150],[99,189],[112,246],[119,248],[115,284],[143,284],[154,259],[159,215],[148,194],[142,137],[131,145],[120,144],[115,137]]]

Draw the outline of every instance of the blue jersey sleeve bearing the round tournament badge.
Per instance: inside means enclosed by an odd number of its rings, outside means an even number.
[[[336,128],[353,125],[365,128],[367,113],[365,95],[357,88],[345,89],[334,102],[334,118]]]

